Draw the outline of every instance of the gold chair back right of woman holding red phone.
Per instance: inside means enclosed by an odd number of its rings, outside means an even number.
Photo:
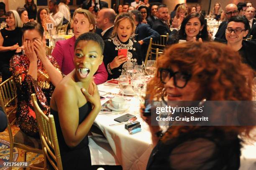
[[[150,59],[156,59],[158,57],[157,55],[157,48],[158,48],[158,52],[159,53],[163,53],[164,52],[164,48],[166,46],[166,42],[168,41],[169,38],[169,33],[166,33],[166,35],[161,35],[159,40],[156,41],[152,41],[151,44],[151,51],[150,51]]]

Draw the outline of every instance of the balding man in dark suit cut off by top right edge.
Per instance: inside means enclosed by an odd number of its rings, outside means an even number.
[[[255,8],[253,8],[253,7],[247,8],[244,15],[248,19],[249,25],[251,28],[251,30],[248,33],[247,38],[249,38],[250,36],[253,36],[252,39],[256,39],[256,19],[254,18],[255,17]]]

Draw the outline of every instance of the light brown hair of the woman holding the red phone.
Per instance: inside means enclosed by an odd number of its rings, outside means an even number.
[[[118,26],[119,26],[120,22],[125,19],[128,19],[132,25],[133,31],[132,31],[131,37],[133,36],[133,34],[135,32],[135,28],[136,28],[135,24],[134,24],[133,16],[131,15],[131,13],[121,13],[117,16],[117,18],[115,20],[115,24],[114,24],[114,28],[113,28],[113,32],[112,32],[112,38],[115,36],[118,36],[118,34],[117,34]]]

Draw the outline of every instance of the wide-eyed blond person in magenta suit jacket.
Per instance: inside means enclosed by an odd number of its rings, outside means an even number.
[[[74,70],[74,43],[76,38],[83,33],[87,33],[95,29],[95,19],[88,10],[78,8],[74,12],[73,20],[74,36],[67,40],[57,41],[54,51],[51,53],[51,55],[56,58],[62,73],[65,75]],[[102,62],[94,75],[94,81],[95,84],[101,84],[107,81],[107,79],[108,72]]]

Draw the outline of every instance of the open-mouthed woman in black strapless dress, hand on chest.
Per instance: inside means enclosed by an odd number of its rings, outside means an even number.
[[[93,75],[103,60],[104,42],[95,33],[84,33],[75,42],[75,69],[56,86],[51,114],[64,170],[92,169],[88,137],[100,112],[100,95]]]

